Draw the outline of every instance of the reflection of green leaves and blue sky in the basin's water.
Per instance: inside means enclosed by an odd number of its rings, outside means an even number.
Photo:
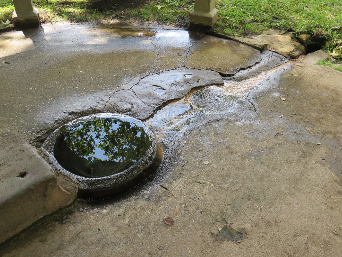
[[[144,155],[149,139],[142,127],[114,118],[88,120],[68,127],[69,149],[87,161],[132,161]]]

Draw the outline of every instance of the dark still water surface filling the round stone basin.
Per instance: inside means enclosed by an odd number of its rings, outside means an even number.
[[[102,177],[132,166],[151,147],[143,127],[116,118],[70,124],[56,139],[54,156],[77,175]]]

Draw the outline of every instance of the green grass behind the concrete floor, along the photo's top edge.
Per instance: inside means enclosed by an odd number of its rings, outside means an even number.
[[[41,22],[94,21],[115,16],[117,19],[157,21],[186,27],[191,0],[159,0],[123,10],[124,14],[87,8],[88,0],[33,0],[39,9]],[[148,1],[146,1],[148,2]],[[161,5],[156,9],[155,5]],[[295,35],[307,33],[326,40],[325,49],[332,62],[342,61],[341,0],[217,0],[219,20],[214,30],[234,36],[260,34],[266,29],[283,29]],[[0,26],[13,12],[12,0],[0,0]],[[113,7],[112,9],[116,9]]]

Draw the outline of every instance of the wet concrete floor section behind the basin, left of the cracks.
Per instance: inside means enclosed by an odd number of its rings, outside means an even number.
[[[159,69],[164,52],[177,55],[166,62],[167,69],[182,66],[186,54],[179,57],[200,38],[184,30],[146,33],[55,24],[0,35],[0,76],[7,89],[0,94],[0,132],[17,131],[31,139],[47,127],[94,112],[111,90],[154,73],[155,62]]]

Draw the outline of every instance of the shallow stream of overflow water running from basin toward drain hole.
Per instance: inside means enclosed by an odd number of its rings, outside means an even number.
[[[171,101],[158,110],[145,124],[156,133],[158,140],[161,140],[180,131],[200,115],[231,112],[237,101],[245,99],[252,89],[260,87],[263,79],[270,73],[290,63],[292,62],[284,63],[244,81],[226,81],[223,86],[212,85],[193,89],[184,98]],[[190,74],[184,74],[186,75]],[[173,77],[173,79],[177,78],[179,75]]]

